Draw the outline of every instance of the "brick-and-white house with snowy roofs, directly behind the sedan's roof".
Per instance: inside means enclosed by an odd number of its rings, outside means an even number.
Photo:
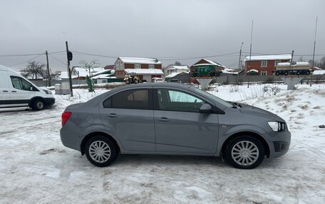
[[[165,79],[162,63],[155,58],[123,58],[115,61],[115,77],[123,79],[128,73],[135,73],[140,80],[151,82],[153,77]]]

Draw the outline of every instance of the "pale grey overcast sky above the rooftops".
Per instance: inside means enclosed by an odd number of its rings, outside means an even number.
[[[238,68],[242,42],[242,58],[249,55],[252,20],[254,55],[294,50],[295,60],[309,60],[316,16],[319,60],[325,55],[324,8],[324,0],[1,0],[0,64],[19,70],[32,58],[46,63],[45,55],[6,55],[48,50],[51,69],[66,70],[66,53],[56,52],[68,41],[71,65],[98,60],[105,66],[118,56],[192,65],[206,57]]]

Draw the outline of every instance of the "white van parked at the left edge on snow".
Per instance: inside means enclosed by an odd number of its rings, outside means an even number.
[[[41,89],[14,70],[0,65],[0,108],[51,107],[55,99],[50,90]]]

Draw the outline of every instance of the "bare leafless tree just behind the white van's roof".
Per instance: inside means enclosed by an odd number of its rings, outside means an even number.
[[[46,75],[45,64],[31,61],[26,68],[21,70],[21,75],[24,77],[29,77],[33,80],[44,77]]]

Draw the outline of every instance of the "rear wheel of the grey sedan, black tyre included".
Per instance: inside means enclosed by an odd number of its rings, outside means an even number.
[[[115,144],[105,136],[93,136],[86,143],[86,157],[95,166],[109,166],[117,156]]]

